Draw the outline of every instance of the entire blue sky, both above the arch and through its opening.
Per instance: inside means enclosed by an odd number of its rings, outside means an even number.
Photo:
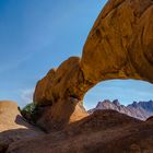
[[[26,105],[32,101],[36,82],[49,69],[70,56],[81,56],[87,34],[105,2],[0,0],[0,99]],[[84,102],[85,107],[91,108],[97,101],[122,96],[119,99],[127,104],[139,97],[140,101],[153,98],[152,92],[149,83],[109,81],[91,90]]]

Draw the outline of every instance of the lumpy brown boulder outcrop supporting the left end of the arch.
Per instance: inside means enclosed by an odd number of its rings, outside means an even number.
[[[71,57],[57,70],[50,70],[37,83],[34,94],[34,102],[42,111],[37,123],[45,129],[47,127],[46,130],[52,130],[85,117],[87,113],[82,105],[84,91],[81,89],[83,82],[78,57]]]

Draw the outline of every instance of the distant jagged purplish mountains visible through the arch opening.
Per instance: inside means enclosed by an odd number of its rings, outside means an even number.
[[[99,102],[94,109],[89,110],[90,114],[94,113],[98,109],[113,109],[117,110],[121,114],[126,114],[133,118],[138,118],[140,120],[146,120],[149,117],[153,116],[153,101],[149,102],[133,102],[128,106],[120,105],[118,99],[113,102],[106,99],[104,102]]]

